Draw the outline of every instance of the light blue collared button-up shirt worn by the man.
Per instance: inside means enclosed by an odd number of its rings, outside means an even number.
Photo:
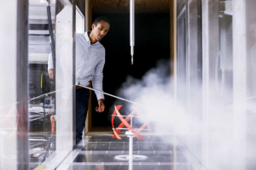
[[[86,31],[76,35],[76,85],[88,86],[92,80],[93,88],[102,91],[105,48],[100,42],[90,44],[88,33]],[[53,69],[51,54],[48,59],[49,69]],[[97,99],[104,99],[104,94],[95,93]]]

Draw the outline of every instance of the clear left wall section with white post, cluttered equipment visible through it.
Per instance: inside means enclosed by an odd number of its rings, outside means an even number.
[[[74,146],[74,23],[70,1],[29,1],[30,169],[54,169]]]

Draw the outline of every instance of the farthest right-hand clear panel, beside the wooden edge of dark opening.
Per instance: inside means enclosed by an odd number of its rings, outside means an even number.
[[[189,133],[182,140],[191,154],[201,161],[202,48],[201,1],[177,1],[177,101],[189,119]]]

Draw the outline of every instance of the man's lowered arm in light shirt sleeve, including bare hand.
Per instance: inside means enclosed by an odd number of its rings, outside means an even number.
[[[102,59],[95,68],[94,75],[92,77],[92,86],[93,88],[102,91],[102,81],[103,81],[103,68],[105,65],[105,59]],[[99,92],[95,92],[96,97],[98,99],[98,105],[99,107],[96,107],[96,111],[98,112],[103,112],[105,110],[105,105],[104,105],[104,94],[101,94]]]

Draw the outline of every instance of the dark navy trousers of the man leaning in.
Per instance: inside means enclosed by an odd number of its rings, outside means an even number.
[[[76,89],[76,142],[82,139],[85,119],[88,111],[90,91],[87,88]]]

